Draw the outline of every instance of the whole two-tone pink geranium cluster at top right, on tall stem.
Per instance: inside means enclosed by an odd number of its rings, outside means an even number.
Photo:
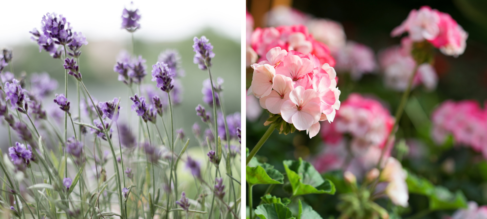
[[[391,36],[408,32],[414,42],[428,41],[445,55],[462,55],[467,47],[468,33],[447,13],[423,6],[413,9]]]

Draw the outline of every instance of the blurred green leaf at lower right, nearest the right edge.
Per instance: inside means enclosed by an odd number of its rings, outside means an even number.
[[[436,186],[430,197],[431,210],[453,210],[467,208],[467,199],[461,191],[455,194],[443,186]]]

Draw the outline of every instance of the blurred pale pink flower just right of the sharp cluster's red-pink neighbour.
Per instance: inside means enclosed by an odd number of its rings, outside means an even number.
[[[348,41],[334,55],[337,60],[337,71],[349,72],[354,80],[360,79],[365,73],[374,72],[377,67],[374,51],[354,41]]]

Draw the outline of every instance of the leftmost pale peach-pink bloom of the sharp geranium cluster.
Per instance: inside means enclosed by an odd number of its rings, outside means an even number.
[[[276,70],[269,64],[253,64],[252,84],[250,85],[247,95],[253,93],[257,98],[269,95],[272,91],[272,80],[276,75]]]

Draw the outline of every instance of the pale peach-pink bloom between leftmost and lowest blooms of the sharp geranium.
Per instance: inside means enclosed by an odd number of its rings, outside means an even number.
[[[293,90],[293,82],[291,78],[277,74],[274,77],[272,88],[274,90],[269,95],[259,99],[259,102],[263,109],[279,114],[282,104],[289,100],[289,93]]]

